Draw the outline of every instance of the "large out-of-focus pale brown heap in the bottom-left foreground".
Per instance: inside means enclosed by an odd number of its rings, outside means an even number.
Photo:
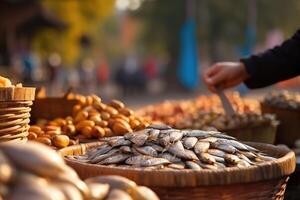
[[[157,200],[147,187],[119,176],[83,182],[45,145],[0,144],[0,199]]]

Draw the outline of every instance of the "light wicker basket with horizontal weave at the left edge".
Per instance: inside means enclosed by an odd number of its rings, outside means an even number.
[[[35,88],[0,88],[0,142],[26,142]]]

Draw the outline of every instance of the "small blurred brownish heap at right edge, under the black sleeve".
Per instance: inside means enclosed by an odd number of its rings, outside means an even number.
[[[271,92],[266,95],[263,103],[280,108],[300,109],[300,93],[288,91]]]

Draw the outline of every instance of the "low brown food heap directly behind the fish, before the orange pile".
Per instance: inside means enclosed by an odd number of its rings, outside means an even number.
[[[243,113],[228,116],[221,113],[200,112],[193,116],[186,116],[179,119],[175,128],[179,129],[201,129],[209,130],[212,127],[218,131],[230,131],[241,128],[251,128],[262,125],[277,125],[278,121],[275,115],[271,114],[257,114],[257,113]]]

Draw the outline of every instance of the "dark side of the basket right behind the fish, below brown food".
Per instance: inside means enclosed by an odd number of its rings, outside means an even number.
[[[262,124],[239,129],[225,130],[222,132],[231,135],[238,140],[249,142],[261,142],[274,144],[276,138],[278,122],[272,124]]]

